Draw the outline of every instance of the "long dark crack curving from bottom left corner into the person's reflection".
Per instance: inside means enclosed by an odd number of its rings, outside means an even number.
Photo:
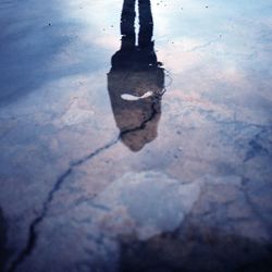
[[[152,112],[151,112],[150,116],[147,120],[145,120],[139,126],[121,132],[118,138],[111,140],[110,143],[108,143],[103,147],[98,148],[97,150],[92,151],[88,156],[86,156],[86,157],[84,157],[75,162],[70,163],[69,169],[65,172],[63,172],[63,174],[60,175],[60,177],[54,183],[52,189],[48,193],[48,196],[47,196],[46,200],[44,201],[42,209],[41,209],[40,213],[32,221],[32,223],[28,227],[28,238],[27,238],[26,246],[17,255],[15,260],[12,261],[10,268],[8,269],[8,272],[16,271],[17,267],[20,264],[22,264],[24,262],[24,260],[28,256],[30,256],[30,254],[33,252],[33,250],[37,244],[37,239],[38,239],[37,227],[42,223],[42,221],[47,217],[49,208],[50,208],[50,203],[52,202],[54,195],[61,189],[61,186],[66,181],[66,178],[72,174],[74,169],[84,164],[85,162],[91,160],[96,156],[99,156],[101,152],[108,150],[109,148],[113,147],[114,145],[116,145],[123,135],[144,129],[146,127],[146,124],[148,122],[152,121],[152,119],[159,113],[159,111],[157,111],[157,109],[156,109],[156,104],[158,103],[158,100],[161,99],[161,96],[163,94],[164,92],[162,92],[158,96],[154,96],[154,99],[153,99],[152,106],[151,106]]]

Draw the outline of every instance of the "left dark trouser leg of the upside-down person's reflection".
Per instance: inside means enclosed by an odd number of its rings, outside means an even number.
[[[121,14],[122,49],[135,46],[135,0],[124,0]]]

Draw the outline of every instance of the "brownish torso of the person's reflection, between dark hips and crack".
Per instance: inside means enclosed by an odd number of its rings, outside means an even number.
[[[121,132],[140,126],[152,113],[152,102],[156,94],[160,92],[158,85],[159,71],[115,71],[108,75],[108,87],[113,114]],[[136,101],[124,100],[122,95],[129,94],[140,97],[147,91],[152,94]],[[158,104],[159,106],[159,104]],[[159,112],[157,106],[157,111]]]

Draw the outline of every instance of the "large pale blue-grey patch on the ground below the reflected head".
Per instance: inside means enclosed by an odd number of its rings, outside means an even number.
[[[128,172],[113,182],[96,205],[109,209],[103,214],[99,212],[102,228],[113,235],[120,232],[148,239],[177,228],[199,194],[199,183],[183,184],[154,171]]]

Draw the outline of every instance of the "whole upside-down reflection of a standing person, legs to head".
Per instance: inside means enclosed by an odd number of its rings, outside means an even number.
[[[135,34],[136,0],[124,0],[121,49],[112,57],[108,90],[122,141],[133,151],[157,137],[164,92],[164,70],[152,41],[150,0],[138,0],[139,34]]]

